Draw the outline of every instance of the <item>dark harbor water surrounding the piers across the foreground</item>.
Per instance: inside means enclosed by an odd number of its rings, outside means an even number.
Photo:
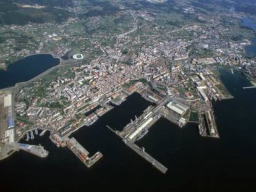
[[[151,103],[132,94],[90,127],[72,136],[90,154],[103,158],[87,169],[67,148],[57,148],[49,133],[29,143],[45,146],[46,159],[19,151],[0,162],[1,188],[6,191],[254,191],[256,185],[256,90],[239,73],[220,69],[234,99],[213,104],[220,139],[200,137],[197,124],[184,128],[160,119],[141,140],[145,151],[168,172],[162,174],[106,128],[122,129]],[[25,140],[23,141],[25,142]]]

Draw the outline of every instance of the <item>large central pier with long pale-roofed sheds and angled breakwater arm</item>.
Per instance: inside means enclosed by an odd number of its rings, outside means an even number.
[[[106,127],[118,135],[129,148],[150,162],[156,169],[166,173],[168,169],[145,152],[144,148],[137,146],[135,141],[145,136],[149,128],[161,117],[176,123],[179,127],[183,127],[187,123],[187,120],[184,119],[184,114],[189,109],[189,105],[190,103],[186,99],[179,98],[179,96],[168,96],[159,101],[157,106],[149,106],[140,117],[135,116],[135,120],[130,120],[130,123],[122,131],[113,130],[108,125]]]

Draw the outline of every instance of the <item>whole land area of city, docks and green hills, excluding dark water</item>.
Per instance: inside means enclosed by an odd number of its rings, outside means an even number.
[[[248,9],[256,5],[238,4],[0,0],[0,72],[29,55],[59,59],[40,75],[0,90],[0,160],[20,149],[50,156],[43,146],[26,143],[48,131],[56,146],[70,149],[86,167],[96,166],[104,156],[100,149],[89,156],[71,135],[132,94],[151,105],[122,130],[105,126],[161,173],[168,167],[136,143],[158,120],[180,128],[197,123],[200,136],[218,140],[213,102],[233,99],[218,69],[241,72],[251,84],[245,89],[256,86],[256,15]]]

